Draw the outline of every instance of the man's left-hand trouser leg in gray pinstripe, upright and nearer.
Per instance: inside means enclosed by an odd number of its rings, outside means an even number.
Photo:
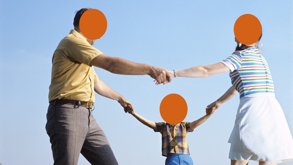
[[[49,105],[46,130],[52,144],[54,165],[76,165],[89,130],[89,109],[67,104]]]

